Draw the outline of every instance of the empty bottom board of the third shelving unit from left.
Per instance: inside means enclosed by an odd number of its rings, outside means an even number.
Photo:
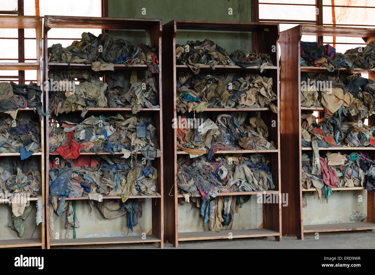
[[[266,237],[279,236],[280,233],[264,228],[259,229],[240,229],[240,230],[221,230],[216,231],[198,231],[198,232],[178,232],[178,241],[192,240],[209,240],[209,239],[228,239],[229,233],[233,238],[250,238],[250,237]]]

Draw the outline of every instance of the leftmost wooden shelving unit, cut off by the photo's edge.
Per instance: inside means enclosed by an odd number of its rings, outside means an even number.
[[[13,70],[13,71],[24,71],[24,70],[34,70],[36,71],[36,82],[37,85],[43,91],[42,85],[42,18],[39,16],[12,16],[12,15],[1,15],[0,16],[0,29],[34,29],[35,30],[35,37],[36,37],[36,61],[37,62],[0,62],[0,70]],[[41,97],[41,101],[43,104],[43,94]],[[44,107],[44,104],[43,104]],[[29,112],[33,109],[25,108],[19,109],[19,112]],[[20,114],[20,113],[18,113]],[[40,176],[42,181],[41,187],[41,196],[45,198],[45,181],[44,181],[44,121],[43,119],[40,121],[40,145],[41,151],[39,153],[34,153],[30,158],[33,156],[37,156],[39,159],[39,168],[40,168]],[[20,157],[20,153],[0,153],[0,156],[13,156],[16,158]],[[11,159],[11,158],[9,158]],[[30,198],[29,201],[37,201],[37,198]],[[2,202],[7,202],[7,199],[3,199]],[[28,217],[28,219],[33,219],[33,217]],[[35,218],[34,218],[35,219]],[[43,219],[45,220],[45,208],[43,207]],[[3,221],[7,222],[7,221]],[[32,239],[8,239],[8,240],[1,240],[0,241],[0,248],[5,247],[41,247],[45,248],[45,224],[40,223],[40,238],[32,238]]]

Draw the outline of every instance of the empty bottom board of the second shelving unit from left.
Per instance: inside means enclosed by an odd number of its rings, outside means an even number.
[[[153,235],[123,236],[123,237],[104,237],[104,238],[77,238],[77,239],[51,239],[52,245],[83,245],[83,244],[126,244],[135,242],[161,242],[159,238]]]

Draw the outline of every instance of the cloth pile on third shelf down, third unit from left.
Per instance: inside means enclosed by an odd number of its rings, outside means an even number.
[[[212,119],[212,120],[211,120]],[[268,141],[269,130],[263,119],[246,112],[207,114],[178,118],[178,150],[191,158],[207,153],[211,160],[217,150],[275,149]]]

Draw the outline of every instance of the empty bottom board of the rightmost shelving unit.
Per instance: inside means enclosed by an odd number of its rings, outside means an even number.
[[[304,225],[303,232],[334,232],[334,231],[351,231],[351,230],[370,230],[375,229],[375,223],[362,221],[359,223],[327,223]]]

